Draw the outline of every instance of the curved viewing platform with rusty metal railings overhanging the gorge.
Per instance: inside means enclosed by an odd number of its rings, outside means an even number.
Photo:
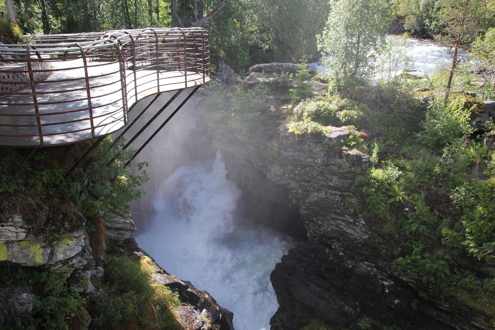
[[[202,28],[26,36],[0,45],[0,145],[44,146],[112,134],[140,100],[210,80]]]

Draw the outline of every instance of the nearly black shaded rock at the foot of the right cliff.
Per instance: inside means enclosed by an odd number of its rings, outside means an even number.
[[[361,329],[358,320],[364,317],[377,329],[489,329],[478,327],[476,315],[466,317],[446,302],[421,299],[411,285],[416,279],[348,253],[350,247],[366,251],[370,246],[345,245],[299,246],[282,258],[270,277],[280,302],[271,329],[298,330],[314,319]]]

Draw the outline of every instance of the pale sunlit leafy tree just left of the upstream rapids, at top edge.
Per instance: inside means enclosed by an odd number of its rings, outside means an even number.
[[[338,0],[318,36],[318,49],[326,54],[326,65],[334,75],[368,77],[391,20],[392,8],[386,0]]]

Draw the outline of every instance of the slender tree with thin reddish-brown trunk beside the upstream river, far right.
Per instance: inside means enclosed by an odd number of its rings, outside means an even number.
[[[445,39],[454,47],[445,95],[446,101],[450,94],[452,79],[457,67],[459,48],[469,39],[472,40],[487,26],[489,18],[488,2],[489,0],[443,0],[440,3],[441,7],[438,15],[440,21],[445,25]]]

